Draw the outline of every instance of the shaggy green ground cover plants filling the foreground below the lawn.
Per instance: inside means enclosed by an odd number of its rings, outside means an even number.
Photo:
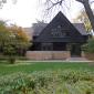
[[[90,71],[40,71],[0,76],[1,94],[94,94]]]

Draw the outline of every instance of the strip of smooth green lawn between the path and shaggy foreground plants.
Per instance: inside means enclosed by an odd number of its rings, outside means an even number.
[[[45,70],[90,70],[94,71],[94,66],[88,63],[81,62],[25,62],[8,64],[0,62],[0,75],[11,74],[15,72],[31,73],[33,71],[45,71]]]

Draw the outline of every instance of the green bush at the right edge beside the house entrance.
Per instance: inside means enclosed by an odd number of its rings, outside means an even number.
[[[85,52],[94,53],[94,38],[90,39],[86,44],[82,46]]]

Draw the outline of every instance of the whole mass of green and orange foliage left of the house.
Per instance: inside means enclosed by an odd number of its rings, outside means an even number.
[[[15,55],[23,55],[29,48],[30,40],[22,28],[7,27],[3,21],[0,22],[0,50],[10,60]]]

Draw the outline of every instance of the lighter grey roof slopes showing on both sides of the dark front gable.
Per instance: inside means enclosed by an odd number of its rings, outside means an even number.
[[[39,35],[42,30],[48,25],[48,23],[42,23],[41,25],[39,23],[34,24],[35,25],[32,28],[24,28],[29,35]],[[73,23],[73,25],[79,30],[82,35],[87,35],[84,23]]]

